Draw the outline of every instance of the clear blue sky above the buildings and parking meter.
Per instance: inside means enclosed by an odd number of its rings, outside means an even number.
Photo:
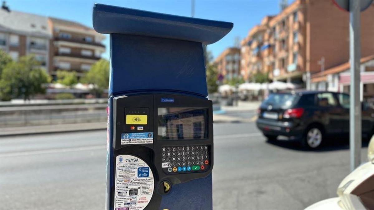
[[[172,15],[191,16],[191,0],[7,0],[10,9],[77,21],[92,27],[94,3],[110,4]],[[288,0],[289,3],[292,0]],[[234,23],[233,30],[217,43],[208,45],[214,57],[244,38],[266,15],[279,12],[279,0],[195,0],[195,17]],[[109,36],[104,41],[109,58]]]

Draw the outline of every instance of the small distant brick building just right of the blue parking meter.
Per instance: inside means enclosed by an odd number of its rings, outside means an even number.
[[[240,49],[230,47],[224,50],[213,62],[217,67],[218,75],[226,80],[237,78],[240,67]]]

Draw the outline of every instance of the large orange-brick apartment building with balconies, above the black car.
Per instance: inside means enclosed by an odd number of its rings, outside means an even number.
[[[374,52],[373,19],[372,5],[361,13],[362,57]],[[349,13],[332,1],[295,0],[267,24],[263,22],[266,21],[261,21],[266,30],[251,33],[258,28],[255,26],[242,41],[243,52],[249,40],[263,34],[263,44],[257,48],[261,51],[260,64],[250,62],[249,69],[242,65],[244,74],[258,71],[252,65],[262,65],[261,71],[268,72],[271,80],[305,84],[309,88],[311,74],[343,64],[349,58]],[[245,62],[243,59],[248,58],[242,58]]]

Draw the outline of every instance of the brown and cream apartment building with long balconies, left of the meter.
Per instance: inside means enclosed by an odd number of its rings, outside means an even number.
[[[52,28],[50,50],[50,75],[55,78],[56,70],[76,71],[82,77],[101,58],[105,36],[92,28],[73,21],[49,18]]]

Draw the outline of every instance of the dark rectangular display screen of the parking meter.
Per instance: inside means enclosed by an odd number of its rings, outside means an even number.
[[[204,108],[158,108],[158,138],[165,140],[204,139],[208,137]]]

